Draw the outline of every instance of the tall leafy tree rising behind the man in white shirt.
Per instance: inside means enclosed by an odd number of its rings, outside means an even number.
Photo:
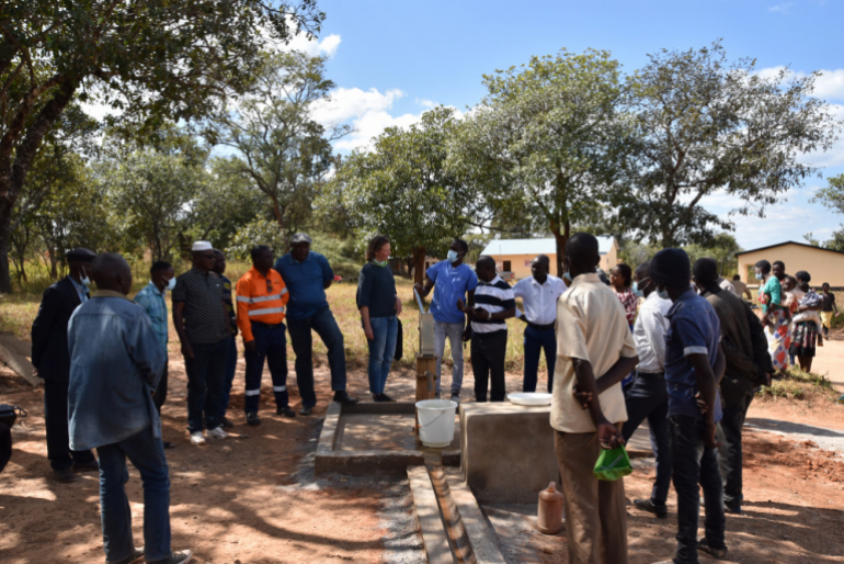
[[[557,273],[572,223],[597,223],[615,201],[618,63],[564,49],[484,75],[487,95],[454,144],[452,163],[503,217],[540,217],[557,241]]]

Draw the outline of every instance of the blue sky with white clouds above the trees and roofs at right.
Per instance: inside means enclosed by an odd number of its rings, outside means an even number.
[[[609,50],[631,72],[650,53],[721,40],[730,59],[755,58],[760,72],[822,70],[814,95],[844,120],[841,0],[320,0],[319,7],[328,18],[318,40],[298,37],[293,47],[329,57],[327,75],[337,89],[319,117],[356,128],[335,142],[341,153],[366,146],[385,127],[414,123],[436,104],[466,112],[486,92],[484,74],[563,47]],[[805,242],[809,232],[823,240],[844,223],[811,203],[825,178],[844,173],[844,139],[801,159],[822,167],[821,178],[784,194],[765,218],[732,217],[743,248]],[[727,194],[704,200],[722,216],[738,205]]]

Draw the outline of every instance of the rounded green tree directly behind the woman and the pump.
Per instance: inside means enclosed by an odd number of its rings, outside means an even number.
[[[411,256],[417,282],[423,280],[425,255],[434,250],[443,257],[466,233],[479,203],[446,167],[447,143],[457,127],[455,111],[438,106],[407,129],[387,128],[372,150],[343,161],[323,195],[331,207],[342,202],[361,245],[383,233],[395,256]]]

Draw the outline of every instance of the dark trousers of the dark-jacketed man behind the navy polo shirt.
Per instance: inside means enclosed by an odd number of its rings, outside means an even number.
[[[742,500],[742,450],[741,429],[748,408],[753,401],[753,387],[749,381],[746,387],[733,382],[730,377],[721,380],[721,406],[723,417],[718,424],[718,462],[723,478],[723,503],[729,506],[741,506]]]

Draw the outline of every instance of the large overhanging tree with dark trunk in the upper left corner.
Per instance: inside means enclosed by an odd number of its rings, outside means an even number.
[[[124,121],[191,120],[242,92],[264,44],[319,31],[316,0],[0,3],[0,292],[12,213],[45,134],[75,95]],[[265,33],[262,33],[265,32]]]

